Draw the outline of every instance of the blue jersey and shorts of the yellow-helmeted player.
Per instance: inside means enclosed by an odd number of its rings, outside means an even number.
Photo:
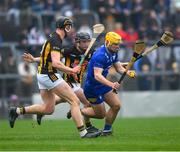
[[[107,76],[109,68],[115,63],[118,62],[118,54],[111,53],[103,45],[96,50],[93,56],[90,59],[88,65],[87,77],[84,83],[84,93],[87,98],[98,97],[104,95],[105,93],[112,90],[111,87],[108,87],[94,78],[94,67],[102,68],[102,75]]]

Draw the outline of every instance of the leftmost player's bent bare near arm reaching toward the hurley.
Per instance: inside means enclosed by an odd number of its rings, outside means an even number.
[[[74,68],[70,68],[65,66],[61,61],[60,61],[60,52],[58,51],[52,51],[51,52],[51,59],[52,59],[52,66],[60,71],[63,71],[67,74],[76,74],[80,71],[80,67],[76,66]]]

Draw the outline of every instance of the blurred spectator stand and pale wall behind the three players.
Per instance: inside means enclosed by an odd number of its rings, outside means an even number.
[[[92,34],[92,26],[102,23],[106,31],[122,36],[122,62],[129,61],[136,40],[144,40],[149,47],[164,31],[171,31],[175,38],[172,45],[139,60],[133,67],[137,77],[124,80],[120,115],[180,116],[180,0],[0,0],[0,118],[7,118],[10,105],[41,102],[37,65],[23,62],[21,55],[39,56],[60,15],[74,21],[64,47],[73,44],[76,32]],[[94,47],[103,43],[104,35]],[[113,74],[111,69],[110,79],[119,79],[120,75]],[[59,112],[55,117],[64,118]]]

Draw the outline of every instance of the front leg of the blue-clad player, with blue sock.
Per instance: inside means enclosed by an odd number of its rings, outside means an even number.
[[[119,96],[112,91],[106,93],[104,95],[104,99],[105,102],[110,106],[110,109],[106,113],[103,135],[110,135],[112,134],[112,124],[121,108],[121,101]]]

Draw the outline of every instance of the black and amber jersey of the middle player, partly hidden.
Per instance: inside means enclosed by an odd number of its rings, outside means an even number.
[[[77,75],[70,75],[70,74],[63,74],[63,78],[66,82],[68,83],[82,83],[83,80],[83,75],[86,70],[87,64],[93,54],[94,50],[91,49],[86,56],[82,66],[81,66],[81,71]],[[68,67],[75,67],[79,64],[81,58],[84,55],[84,51],[80,52],[75,46],[72,46],[70,48],[65,48],[62,50],[62,54],[65,58],[65,65]]]

